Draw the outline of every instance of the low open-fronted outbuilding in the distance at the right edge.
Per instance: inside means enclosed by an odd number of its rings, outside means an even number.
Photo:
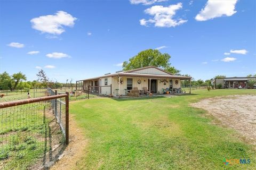
[[[248,88],[248,82],[250,80],[256,81],[256,77],[233,77],[233,78],[214,78],[212,84],[215,89],[218,88],[218,84],[221,84],[221,88]]]

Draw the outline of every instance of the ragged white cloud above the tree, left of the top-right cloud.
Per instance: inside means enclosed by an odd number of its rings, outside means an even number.
[[[141,19],[140,24],[148,26],[149,24],[154,24],[155,27],[175,27],[177,25],[187,22],[187,20],[173,19],[176,11],[182,8],[182,3],[175,5],[170,5],[164,7],[161,5],[155,5],[147,8],[144,12],[149,15],[153,15],[154,18],[149,20]]]

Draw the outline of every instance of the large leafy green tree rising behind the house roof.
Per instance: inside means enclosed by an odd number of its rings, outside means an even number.
[[[156,66],[172,74],[177,74],[180,70],[175,69],[170,63],[171,56],[167,53],[162,54],[157,49],[146,49],[123,62],[123,70],[138,69],[146,66]]]

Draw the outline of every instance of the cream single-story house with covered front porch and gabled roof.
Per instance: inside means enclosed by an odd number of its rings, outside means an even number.
[[[119,71],[105,74],[100,77],[79,80],[82,89],[97,88],[101,95],[127,95],[132,89],[147,89],[151,93],[162,94],[163,89],[177,90],[181,87],[181,80],[191,77],[173,75],[155,66],[147,66],[129,71]],[[120,83],[119,83],[120,82]]]

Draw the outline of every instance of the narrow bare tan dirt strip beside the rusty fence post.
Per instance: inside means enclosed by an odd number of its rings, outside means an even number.
[[[82,130],[79,129],[74,116],[69,117],[69,145],[59,157],[57,163],[51,169],[74,169],[77,162],[84,156],[84,148],[87,145]]]

